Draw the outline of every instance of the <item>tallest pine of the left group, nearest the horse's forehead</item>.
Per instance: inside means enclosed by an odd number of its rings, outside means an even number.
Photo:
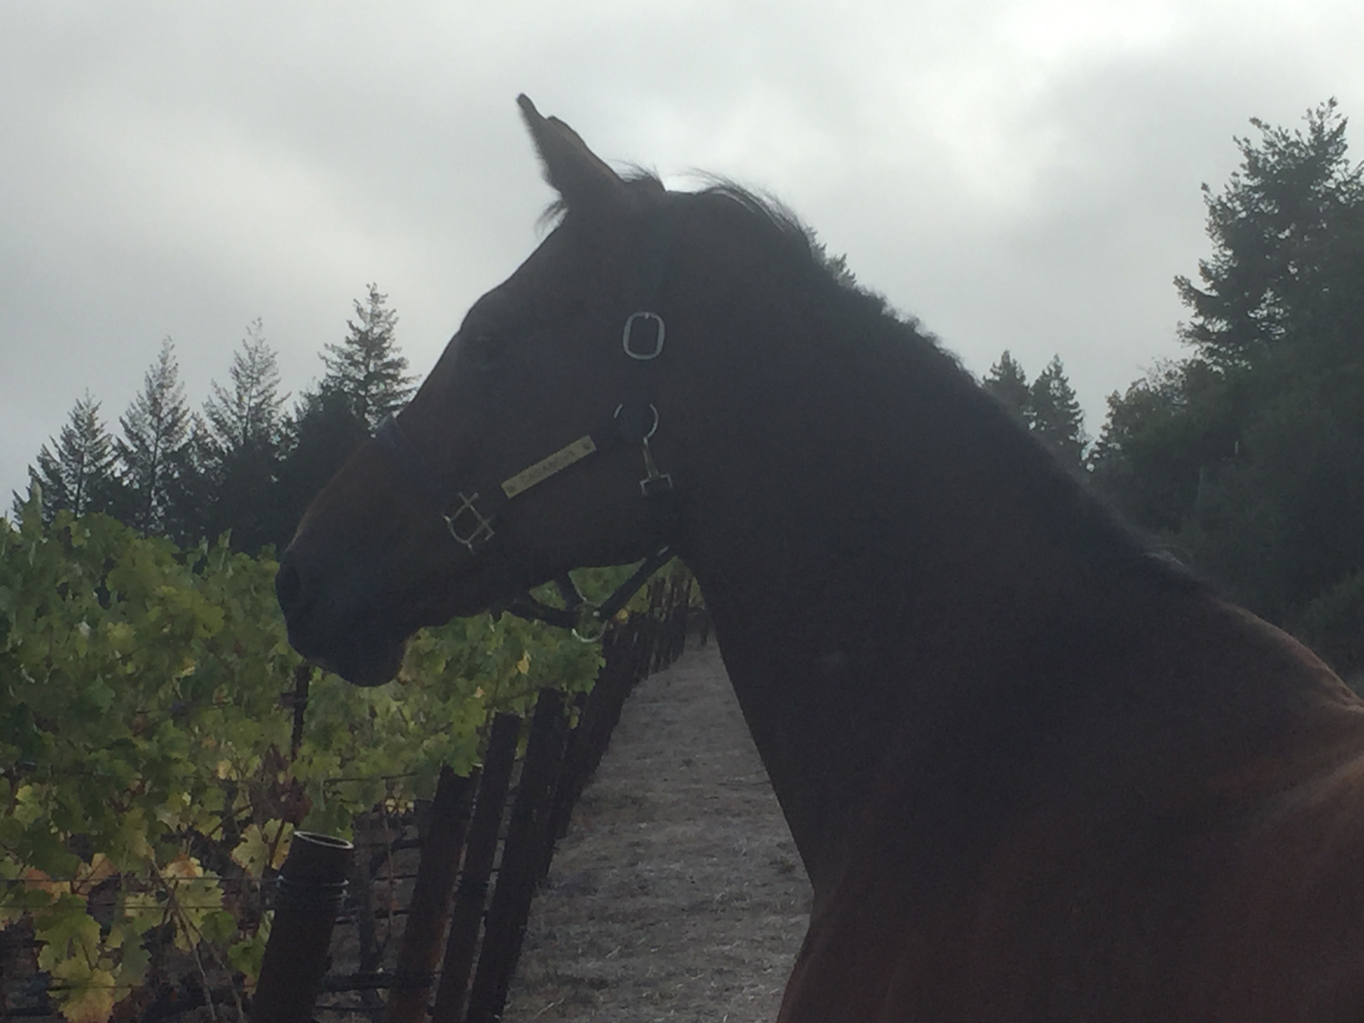
[[[413,376],[405,374],[408,360],[398,353],[393,329],[398,315],[385,307],[387,295],[366,285],[367,299],[356,300],[356,319],[346,321],[351,333],[338,345],[326,345],[322,363],[326,375],[321,391],[342,394],[352,413],[374,430],[385,416],[397,412],[412,394]]]

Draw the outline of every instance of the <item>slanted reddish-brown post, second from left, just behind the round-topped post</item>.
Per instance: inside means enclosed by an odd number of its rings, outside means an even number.
[[[402,930],[402,947],[389,994],[387,1023],[424,1023],[431,993],[432,971],[441,958],[450,892],[464,851],[469,827],[475,779],[461,777],[449,767],[441,768],[431,828],[421,843],[416,884],[412,889],[412,913]]]

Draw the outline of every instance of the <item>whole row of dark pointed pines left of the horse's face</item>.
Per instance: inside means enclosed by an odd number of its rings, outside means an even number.
[[[237,550],[282,547],[312,495],[412,393],[394,340],[398,318],[386,301],[368,285],[345,338],[321,353],[322,379],[292,409],[259,319],[233,353],[228,382],[214,382],[198,412],[168,338],[119,417],[117,436],[86,391],[38,451],[29,479],[44,516],[104,512],[180,546],[231,532]]]

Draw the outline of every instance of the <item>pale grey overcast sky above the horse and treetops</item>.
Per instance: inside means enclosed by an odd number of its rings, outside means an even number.
[[[1180,353],[1200,183],[1252,116],[1364,125],[1361,53],[1360,0],[0,0],[0,512],[165,337],[198,408],[259,316],[297,393],[374,281],[426,374],[536,243],[521,91],[782,199],[977,374],[1060,355],[1098,432]]]

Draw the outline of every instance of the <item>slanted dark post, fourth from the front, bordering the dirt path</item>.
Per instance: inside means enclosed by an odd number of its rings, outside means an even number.
[[[488,923],[479,951],[479,968],[469,994],[466,1023],[495,1023],[506,1005],[512,973],[521,953],[531,900],[543,855],[543,843],[552,840],[550,806],[555,775],[563,758],[567,722],[563,694],[552,689],[540,693],[531,722],[531,741],[517,786],[516,803],[502,846],[498,884],[492,892]]]

